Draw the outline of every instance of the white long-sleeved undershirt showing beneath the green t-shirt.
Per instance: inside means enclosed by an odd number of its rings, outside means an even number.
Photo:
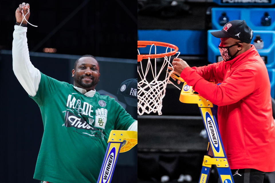
[[[27,43],[27,27],[14,26],[12,60],[13,72],[19,83],[31,97],[35,96],[40,83],[41,74],[30,61]],[[95,90],[87,92],[86,89],[83,88],[76,86],[74,86],[74,88],[88,97],[93,97],[95,94]],[[127,130],[137,131],[137,121],[133,122]]]

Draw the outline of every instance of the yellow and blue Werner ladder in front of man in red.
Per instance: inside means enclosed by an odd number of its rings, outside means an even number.
[[[234,183],[223,147],[223,142],[221,140],[217,121],[215,115],[212,114],[211,109],[213,108],[213,104],[209,100],[199,96],[199,94],[196,94],[192,89],[192,86],[189,86],[181,77],[177,77],[174,74],[171,75],[184,82],[180,92],[180,102],[198,104],[201,111],[201,116],[203,117],[204,127],[207,132],[209,143],[207,148],[207,155],[203,158],[199,183],[208,182],[211,167],[213,165],[217,166],[219,178],[222,183]]]

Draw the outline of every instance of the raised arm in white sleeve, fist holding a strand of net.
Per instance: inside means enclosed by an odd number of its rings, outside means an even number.
[[[23,13],[21,13],[21,11],[23,9],[25,15],[29,11],[28,8],[30,8],[28,3],[22,3],[16,9],[15,17],[17,24],[20,24],[22,20],[22,25],[27,24],[25,19],[23,19]],[[28,20],[29,17],[30,12],[25,16],[25,18]],[[30,96],[35,96],[40,83],[41,74],[30,61],[27,43],[27,27],[18,25],[14,26],[12,59],[13,72],[18,81]]]

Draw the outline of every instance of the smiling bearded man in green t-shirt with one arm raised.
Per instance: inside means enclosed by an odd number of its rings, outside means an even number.
[[[92,55],[76,60],[73,85],[53,79],[32,65],[27,22],[20,12],[23,9],[26,14],[29,6],[22,3],[15,12],[12,56],[15,76],[40,107],[44,125],[34,179],[95,183],[111,130],[137,131],[137,121],[114,98],[95,91],[100,68]],[[30,13],[26,19],[29,16]]]

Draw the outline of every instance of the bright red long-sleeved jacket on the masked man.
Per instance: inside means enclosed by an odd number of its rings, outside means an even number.
[[[275,171],[270,81],[254,45],[231,61],[186,67],[180,77],[219,106],[219,130],[231,169]]]

